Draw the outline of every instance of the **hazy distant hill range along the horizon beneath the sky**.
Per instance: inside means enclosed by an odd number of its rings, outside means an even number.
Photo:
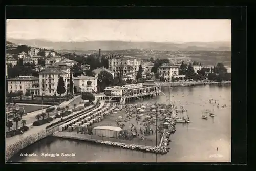
[[[14,44],[26,44],[32,47],[40,47],[55,50],[160,50],[160,51],[231,51],[230,42],[189,42],[189,43],[172,43],[172,42],[127,42],[127,41],[84,41],[84,42],[52,42],[46,40],[18,40],[8,39]]]

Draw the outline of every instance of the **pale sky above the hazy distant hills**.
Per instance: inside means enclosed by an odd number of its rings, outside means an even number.
[[[7,39],[231,42],[231,20],[8,19]]]

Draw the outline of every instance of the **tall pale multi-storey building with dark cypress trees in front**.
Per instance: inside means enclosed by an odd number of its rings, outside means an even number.
[[[69,87],[70,68],[66,67],[48,67],[39,73],[40,95],[53,96],[56,92],[60,76],[63,77],[65,87]],[[73,81],[74,82],[74,81]],[[65,96],[66,93],[61,94]]]

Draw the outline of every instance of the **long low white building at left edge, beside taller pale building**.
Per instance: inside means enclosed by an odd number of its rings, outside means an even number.
[[[16,78],[7,79],[8,82],[8,92],[22,91],[26,93],[27,89],[35,88],[39,83],[39,78],[34,76],[19,76]],[[37,88],[39,91],[39,89]],[[39,94],[39,92],[36,92]]]

